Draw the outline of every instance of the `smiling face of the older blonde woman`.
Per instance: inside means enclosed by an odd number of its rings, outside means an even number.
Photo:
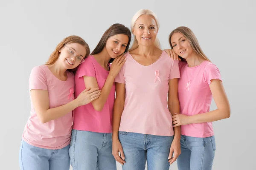
[[[133,34],[139,45],[153,45],[157,37],[157,23],[151,15],[141,15],[134,25]]]

